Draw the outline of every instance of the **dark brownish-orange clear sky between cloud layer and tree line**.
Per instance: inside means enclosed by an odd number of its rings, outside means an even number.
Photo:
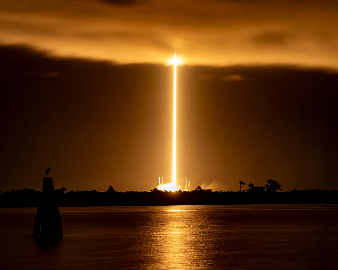
[[[0,189],[150,190],[171,182],[172,66],[48,58],[0,46]],[[177,69],[177,182],[337,188],[338,74]]]

